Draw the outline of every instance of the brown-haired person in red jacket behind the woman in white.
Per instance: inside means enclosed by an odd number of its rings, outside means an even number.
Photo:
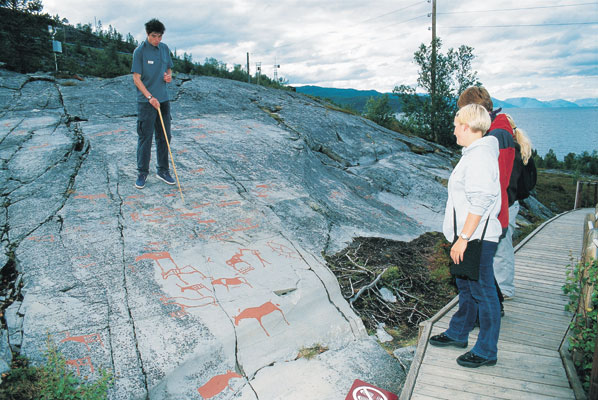
[[[494,273],[497,282],[501,313],[504,299],[512,298],[514,287],[512,284],[515,271],[515,254],[511,236],[515,226],[515,217],[519,211],[519,203],[512,196],[513,185],[517,184],[516,177],[512,177],[513,169],[517,171],[521,164],[519,145],[514,139],[513,128],[506,114],[499,114],[502,109],[493,110],[492,98],[488,91],[482,86],[472,86],[463,91],[457,101],[457,106],[462,108],[468,104],[480,104],[490,114],[492,125],[486,135],[498,139],[499,156],[498,167],[500,170],[500,193],[501,209],[498,220],[501,223],[503,234],[501,235],[496,254],[494,256]],[[517,172],[518,176],[518,172]],[[513,179],[512,179],[513,178]],[[516,193],[516,189],[515,189]],[[511,226],[511,228],[509,228]],[[508,238],[507,238],[508,236]]]

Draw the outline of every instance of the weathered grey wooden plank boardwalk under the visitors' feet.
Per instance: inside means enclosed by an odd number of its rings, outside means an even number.
[[[457,310],[453,299],[422,324],[403,399],[575,399],[559,348],[572,315],[565,312],[566,266],[581,255],[583,222],[592,209],[571,211],[544,223],[515,249],[515,297],[506,301],[493,367],[464,368],[467,349],[428,346]],[[469,336],[471,349],[478,329]]]

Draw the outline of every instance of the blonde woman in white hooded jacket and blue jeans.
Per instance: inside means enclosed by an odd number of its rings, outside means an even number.
[[[455,232],[459,235],[451,247],[455,264],[463,260],[468,241],[480,239],[484,225],[488,224],[482,240],[479,280],[457,277],[459,309],[451,318],[449,328],[430,338],[430,344],[435,346],[467,347],[469,332],[479,313],[478,340],[470,351],[457,358],[459,365],[473,368],[496,364],[500,331],[500,305],[492,268],[502,233],[497,218],[500,211],[498,141],[484,136],[489,127],[488,111],[478,104],[461,108],[455,116],[454,135],[457,144],[463,147],[463,155],[449,179],[442,227],[450,242],[454,241]]]

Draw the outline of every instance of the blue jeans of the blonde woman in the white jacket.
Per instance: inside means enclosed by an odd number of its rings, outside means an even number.
[[[449,328],[445,332],[453,340],[466,342],[479,315],[480,332],[471,351],[488,360],[496,360],[500,332],[500,304],[492,268],[496,247],[495,242],[482,241],[478,281],[457,278],[459,309],[451,318]]]

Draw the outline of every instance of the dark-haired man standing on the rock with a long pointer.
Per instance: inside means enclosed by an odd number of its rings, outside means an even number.
[[[162,130],[158,110],[162,113],[166,134],[170,142],[170,101],[166,84],[172,81],[170,50],[162,41],[166,28],[157,19],[145,24],[147,39],[133,52],[133,82],[137,87],[137,181],[135,187],[143,189],[149,174],[152,136],[156,135],[156,176],[169,185],[175,180],[168,172],[168,145]]]

